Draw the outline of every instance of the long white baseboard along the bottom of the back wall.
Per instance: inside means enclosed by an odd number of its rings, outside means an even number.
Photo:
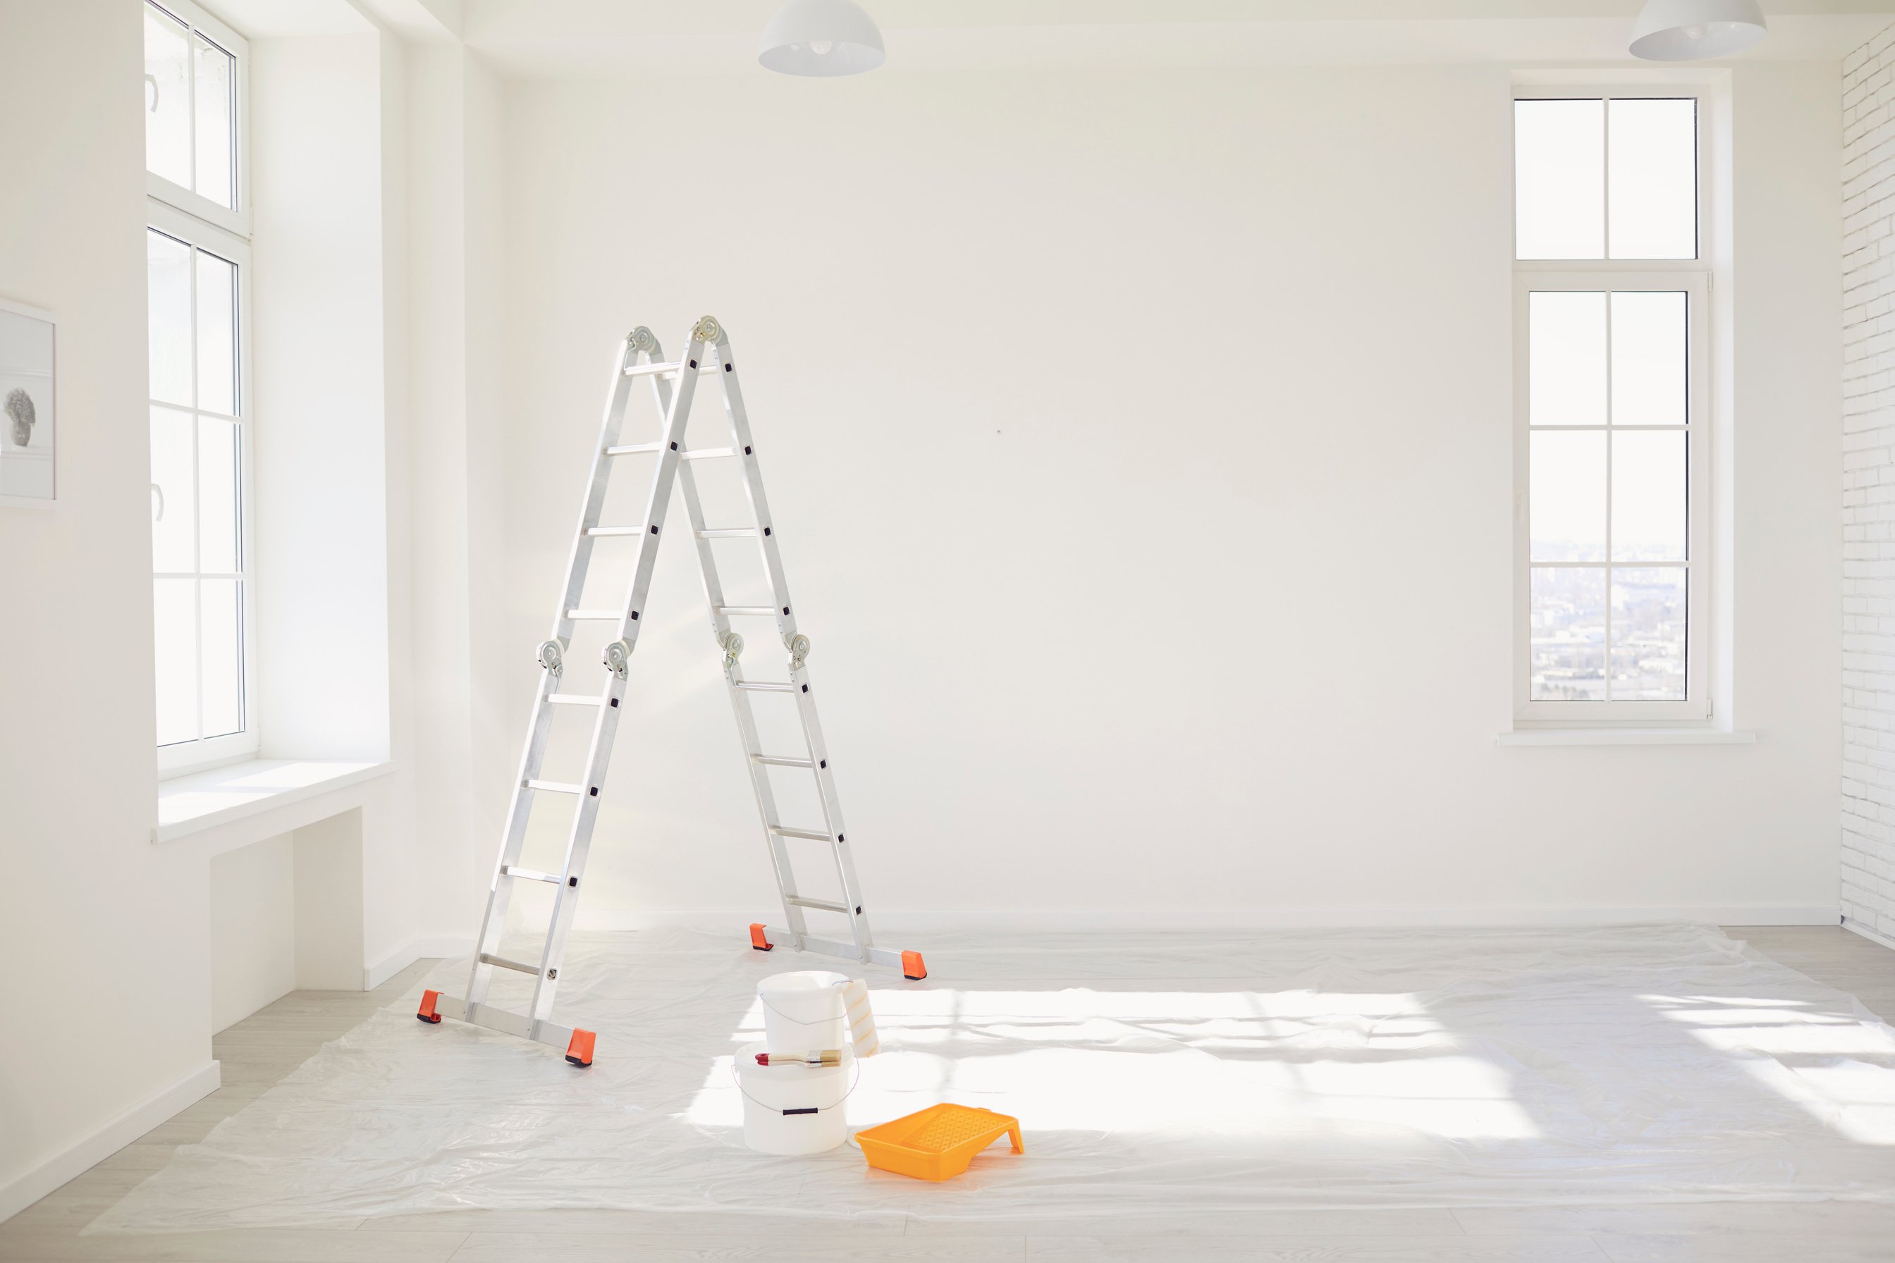
[[[982,930],[1025,934],[1035,930],[1385,930],[1450,926],[1624,926],[1692,922],[1711,926],[1834,926],[1834,903],[1694,903],[1656,907],[1266,907],[1266,909],[1052,909],[1038,913],[874,913],[875,937]],[[749,913],[652,913],[580,909],[578,930],[730,930],[743,934],[752,920],[777,922],[781,911]],[[468,949],[472,951],[472,947]]]

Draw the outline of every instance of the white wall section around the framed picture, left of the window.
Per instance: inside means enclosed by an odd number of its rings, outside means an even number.
[[[59,506],[0,509],[0,1216],[216,1087],[205,862],[150,841],[142,72],[136,6],[0,6],[0,294],[61,318]]]

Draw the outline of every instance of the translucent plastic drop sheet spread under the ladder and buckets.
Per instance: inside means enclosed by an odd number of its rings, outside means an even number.
[[[1192,1208],[1895,1201],[1895,1034],[1704,926],[932,935],[864,969],[881,1028],[851,1129],[1018,1115],[968,1174],[743,1147],[756,983],[830,968],[739,934],[574,935],[589,1070],[421,987],[218,1123],[87,1231],[455,1208],[822,1218]],[[426,983],[464,985],[464,964]],[[512,981],[512,979],[504,979]],[[529,979],[519,979],[529,983]],[[498,987],[498,985],[496,985]],[[496,998],[506,998],[496,990]]]

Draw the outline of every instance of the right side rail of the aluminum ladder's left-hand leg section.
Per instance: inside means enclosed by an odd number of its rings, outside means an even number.
[[[692,329],[692,341],[684,352],[684,360],[692,369],[697,367],[697,360],[703,356],[705,339],[699,337],[703,326],[705,322],[699,322]],[[656,350],[658,339],[650,339],[650,347]],[[658,377],[654,381],[661,382]],[[671,487],[677,481],[678,468],[684,464],[678,453],[684,447],[684,430],[690,426],[695,386],[697,373],[682,373],[665,407],[665,432],[659,437],[658,468],[652,470],[652,489],[646,496],[644,521],[641,523],[644,534],[639,536],[639,562],[625,591],[618,640],[605,648],[605,667],[612,676],[608,682],[608,703],[599,708],[599,716],[593,721],[591,750],[586,757],[586,793],[580,795],[580,807],[572,814],[572,829],[567,835],[563,869],[567,881],[553,894],[551,926],[540,952],[540,973],[532,985],[531,1015],[534,1021],[544,1021],[551,1015],[553,996],[559,988],[559,964],[565,960],[567,937],[572,934],[572,915],[578,909],[578,898],[574,896],[578,890],[576,877],[584,871],[586,858],[591,852],[591,835],[599,818],[599,792],[605,782],[605,771],[612,761],[612,740],[618,735],[618,716],[623,710],[620,703],[623,701],[625,676],[631,670],[631,651],[639,636],[639,615],[652,587],[652,570],[658,564],[658,547],[663,540],[665,511],[671,507]],[[605,445],[601,445],[603,449]],[[603,458],[595,456],[595,460]]]

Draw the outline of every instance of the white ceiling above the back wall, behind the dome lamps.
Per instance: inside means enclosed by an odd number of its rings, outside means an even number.
[[[976,66],[1626,62],[1641,0],[862,0],[883,74]],[[781,0],[210,0],[256,38],[362,28],[459,34],[529,78],[758,74]],[[1764,0],[1751,59],[1834,59],[1895,21],[1895,0]]]

